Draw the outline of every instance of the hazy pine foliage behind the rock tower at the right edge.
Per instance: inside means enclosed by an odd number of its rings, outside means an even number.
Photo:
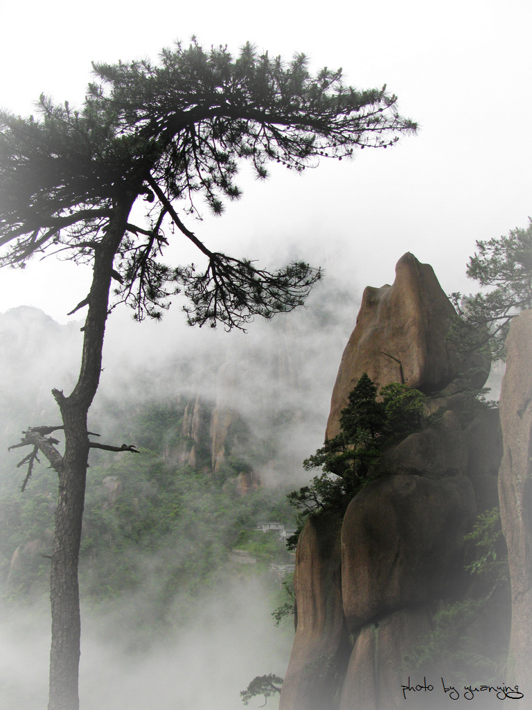
[[[458,317],[451,325],[450,339],[465,357],[480,352],[492,360],[504,360],[511,320],[532,308],[532,219],[527,229],[477,241],[477,249],[467,275],[492,290],[470,297],[451,294]]]

